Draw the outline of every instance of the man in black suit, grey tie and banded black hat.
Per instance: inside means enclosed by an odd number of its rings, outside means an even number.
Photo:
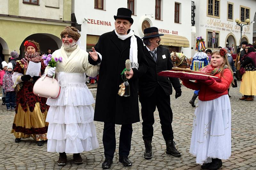
[[[142,135],[145,144],[145,159],[152,158],[152,137],[154,112],[158,109],[162,134],[166,142],[166,153],[173,156],[181,156],[181,153],[175,148],[172,131],[172,109],[170,103],[170,95],[172,94],[172,86],[175,89],[175,98],[181,96],[181,86],[178,78],[158,76],[161,71],[171,70],[172,60],[170,52],[167,48],[159,46],[160,36],[164,34],[158,33],[158,28],[150,27],[144,30],[143,42],[144,53],[148,60],[149,68],[139,79],[139,96],[141,103],[142,117]]]

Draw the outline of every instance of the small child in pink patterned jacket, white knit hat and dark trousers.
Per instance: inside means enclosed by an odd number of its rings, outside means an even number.
[[[5,103],[7,110],[15,110],[15,91],[12,81],[12,63],[9,63],[7,66],[7,71],[5,71],[3,77],[3,92],[5,93]]]

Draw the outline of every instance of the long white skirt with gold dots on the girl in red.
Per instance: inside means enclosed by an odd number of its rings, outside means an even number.
[[[210,101],[198,100],[194,115],[191,154],[196,163],[212,162],[211,158],[231,156],[231,107],[228,95]]]

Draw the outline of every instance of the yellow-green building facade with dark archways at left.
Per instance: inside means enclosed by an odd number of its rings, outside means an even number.
[[[11,51],[24,56],[24,42],[36,40],[41,51],[59,49],[60,32],[71,25],[71,0],[1,0],[0,54],[8,61]]]

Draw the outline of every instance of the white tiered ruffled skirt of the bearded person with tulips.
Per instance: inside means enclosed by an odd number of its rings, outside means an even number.
[[[95,103],[84,73],[59,72],[60,95],[47,99],[47,151],[81,153],[99,147],[93,123]]]

